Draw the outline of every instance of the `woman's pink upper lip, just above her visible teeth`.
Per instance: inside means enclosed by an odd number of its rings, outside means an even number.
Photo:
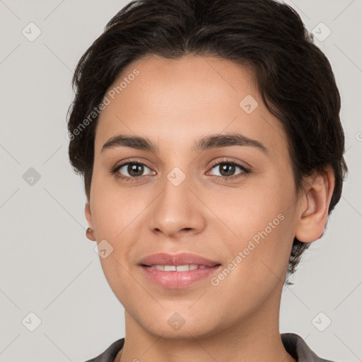
[[[180,254],[167,254],[165,252],[159,252],[157,254],[148,255],[148,257],[144,257],[141,259],[139,264],[147,265],[148,267],[151,265],[189,265],[189,264],[197,264],[197,265],[205,265],[206,267],[214,267],[215,265],[219,265],[219,262],[215,262],[214,260],[206,259],[200,255],[189,254],[188,252],[182,252]]]

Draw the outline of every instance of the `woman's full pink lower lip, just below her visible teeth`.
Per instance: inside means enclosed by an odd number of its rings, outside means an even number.
[[[141,268],[144,270],[148,279],[153,281],[154,284],[163,286],[163,288],[172,289],[187,288],[187,286],[206,279],[211,274],[216,273],[220,267],[221,265],[216,265],[212,268],[194,269],[189,271],[163,271],[141,265]]]

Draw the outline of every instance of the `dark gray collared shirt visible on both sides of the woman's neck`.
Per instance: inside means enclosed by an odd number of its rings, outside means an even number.
[[[284,348],[296,359],[297,362],[333,362],[327,359],[318,357],[305,343],[304,339],[295,333],[282,333],[281,341]],[[99,356],[90,359],[86,362],[113,362],[124,344],[124,338],[113,342]]]

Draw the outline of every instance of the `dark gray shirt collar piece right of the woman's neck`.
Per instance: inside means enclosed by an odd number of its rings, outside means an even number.
[[[288,354],[296,358],[298,362],[334,362],[317,356],[298,334],[283,333],[281,334],[281,341]]]

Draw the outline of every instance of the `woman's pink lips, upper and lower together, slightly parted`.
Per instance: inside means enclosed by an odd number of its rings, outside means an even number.
[[[163,271],[152,269],[150,265],[185,265],[198,264],[204,265],[204,269],[194,269],[189,271]],[[166,253],[158,253],[149,255],[139,263],[146,278],[163,288],[180,289],[206,279],[220,269],[221,264],[213,260],[206,259],[199,255],[181,253],[170,255]]]

